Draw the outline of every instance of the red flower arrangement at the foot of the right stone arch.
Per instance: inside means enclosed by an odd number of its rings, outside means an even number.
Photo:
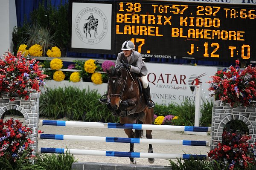
[[[222,134],[222,144],[210,150],[208,156],[210,160],[217,161],[221,167],[233,169],[248,169],[248,164],[256,164],[253,153],[253,145],[249,146],[251,137],[241,131],[235,133],[224,130]]]

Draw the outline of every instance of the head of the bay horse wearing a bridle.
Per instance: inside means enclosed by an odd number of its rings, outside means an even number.
[[[125,90],[127,72],[122,64],[116,66],[116,68],[107,70],[107,72],[109,74],[108,95],[110,95],[111,98],[111,107],[113,109],[118,109],[119,104],[122,101],[123,92]]]

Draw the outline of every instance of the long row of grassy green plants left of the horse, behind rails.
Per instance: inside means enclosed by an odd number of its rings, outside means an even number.
[[[40,97],[40,115],[48,118],[63,118],[93,122],[118,122],[98,99],[97,90],[67,86],[49,89]]]

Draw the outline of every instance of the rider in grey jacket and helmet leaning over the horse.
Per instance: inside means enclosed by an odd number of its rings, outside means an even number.
[[[147,73],[148,69],[142,61],[142,55],[134,50],[134,43],[130,40],[125,41],[122,44],[122,52],[120,52],[116,59],[116,66],[118,66],[123,60],[125,67],[128,68],[131,72],[138,74],[143,83],[143,95],[147,102],[148,108],[155,107],[154,102],[150,99],[150,89],[148,85]],[[102,103],[107,103],[107,98],[99,99]]]

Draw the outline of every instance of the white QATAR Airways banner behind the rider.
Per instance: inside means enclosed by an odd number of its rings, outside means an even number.
[[[195,101],[190,87],[200,85],[209,95],[208,81],[217,67],[146,63],[151,98],[157,104],[181,104],[185,99]]]

